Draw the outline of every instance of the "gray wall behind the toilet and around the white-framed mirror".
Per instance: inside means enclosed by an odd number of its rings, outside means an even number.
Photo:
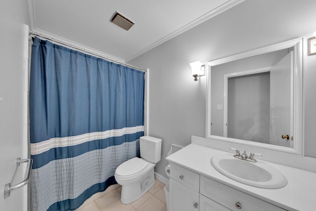
[[[316,55],[307,55],[307,39],[316,30],[315,8],[315,0],[245,0],[129,61],[150,69],[149,135],[162,138],[159,174],[166,176],[164,157],[171,143],[186,146],[191,135],[205,137],[206,79],[193,80],[190,62],[298,37],[304,37],[305,155],[316,158]]]

